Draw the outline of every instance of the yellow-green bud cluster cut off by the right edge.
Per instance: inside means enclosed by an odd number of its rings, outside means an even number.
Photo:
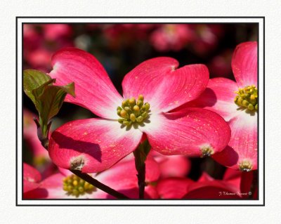
[[[255,85],[239,88],[235,93],[237,93],[237,95],[235,96],[234,102],[238,106],[251,111],[258,110],[258,88],[256,88]]]

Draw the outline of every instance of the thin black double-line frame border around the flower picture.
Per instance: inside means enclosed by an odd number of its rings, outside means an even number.
[[[108,19],[115,19],[115,18],[259,18],[263,20],[263,204],[18,204],[18,19],[21,18],[108,18]],[[266,204],[266,181],[265,181],[265,167],[266,167],[266,153],[265,153],[265,133],[266,133],[266,123],[265,123],[265,33],[266,33],[266,27],[265,27],[265,16],[16,16],[15,17],[15,206],[265,206]],[[23,32],[23,24],[28,23],[39,23],[39,24],[55,24],[55,23],[86,23],[86,22],[22,22],[22,32]],[[96,23],[124,23],[124,22],[96,22]],[[130,22],[130,23],[139,23],[139,22]],[[141,23],[152,23],[152,22],[141,22]],[[153,23],[169,23],[169,22],[153,22]],[[174,22],[174,23],[186,23],[186,22]],[[227,23],[245,23],[245,22],[190,22],[190,23],[221,23],[221,24],[227,24]],[[257,23],[259,22],[247,22],[247,23]],[[258,26],[258,33],[260,32],[259,26]],[[23,37],[23,33],[22,33]],[[258,35],[258,43],[259,43],[259,35]],[[23,49],[23,41],[22,41],[22,49]],[[22,56],[22,62],[23,62],[23,56]],[[258,62],[259,61],[259,47],[258,47]],[[23,65],[23,63],[22,63]],[[258,66],[258,86],[259,86],[259,66]],[[22,96],[23,97],[23,96]],[[22,100],[22,99],[21,99]],[[22,100],[23,103],[23,100]],[[261,110],[261,108],[259,108]],[[22,117],[23,117],[23,110],[22,110]],[[259,113],[258,113],[258,148],[259,148]],[[23,122],[23,121],[22,121]],[[23,125],[22,125],[23,127]],[[23,131],[22,131],[23,133]],[[23,139],[23,138],[22,138]],[[23,163],[22,163],[23,164]],[[23,165],[22,165],[23,166]],[[259,153],[258,153],[258,166],[259,166]],[[259,172],[259,170],[258,170]],[[259,173],[258,173],[258,181],[259,181]],[[22,191],[23,192],[23,191]],[[22,193],[23,194],[23,193]],[[259,192],[258,192],[258,198],[259,198]],[[24,200],[24,199],[22,199]],[[32,201],[32,199],[29,199]],[[36,200],[36,199],[33,199]],[[42,200],[42,199],[40,199]],[[45,199],[48,201],[51,200],[61,200],[61,201],[68,201],[73,199]],[[75,199],[77,200],[77,199]],[[78,200],[89,200],[89,199],[78,199]],[[99,199],[91,199],[93,200],[99,200]],[[110,199],[105,199],[106,201]],[[155,201],[154,199],[143,199],[144,201]],[[141,201],[143,201],[141,200]],[[176,199],[165,199],[162,201],[177,201]],[[195,199],[199,201],[200,199]],[[201,199],[205,200],[205,199]],[[217,201],[221,199],[212,199],[212,201]],[[233,200],[233,199],[223,199],[223,201],[227,200]],[[242,200],[249,200],[249,199],[237,199],[239,201]],[[258,199],[259,200],[259,199]],[[115,200],[110,200],[115,201]],[[120,200],[119,200],[120,201]],[[126,199],[124,200],[126,201]],[[130,200],[133,201],[133,200]],[[139,201],[139,199],[134,200]],[[181,200],[178,200],[181,201]],[[188,200],[189,201],[189,200]],[[192,200],[190,200],[192,201]]]

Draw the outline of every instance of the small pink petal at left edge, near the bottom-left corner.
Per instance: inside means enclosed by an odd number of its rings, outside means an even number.
[[[29,192],[39,187],[41,174],[28,164],[23,164],[23,192]]]

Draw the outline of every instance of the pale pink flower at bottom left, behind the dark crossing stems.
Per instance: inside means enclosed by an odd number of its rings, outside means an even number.
[[[148,171],[145,174],[145,198],[155,199],[158,197],[155,187],[150,183],[159,178],[159,167],[151,157],[146,162]],[[111,169],[102,173],[93,173],[92,176],[105,185],[122,192],[132,199],[138,198],[138,178],[133,159],[119,162]],[[25,194],[25,199],[115,199],[112,195],[85,183],[70,171],[60,169],[60,173],[49,176],[40,183],[36,190]]]

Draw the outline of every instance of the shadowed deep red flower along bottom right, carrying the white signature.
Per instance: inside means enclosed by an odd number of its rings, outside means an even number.
[[[227,169],[223,180],[216,180],[203,172],[197,181],[183,177],[164,178],[157,182],[156,189],[161,199],[256,198],[256,189],[251,188],[253,177],[253,172]]]

